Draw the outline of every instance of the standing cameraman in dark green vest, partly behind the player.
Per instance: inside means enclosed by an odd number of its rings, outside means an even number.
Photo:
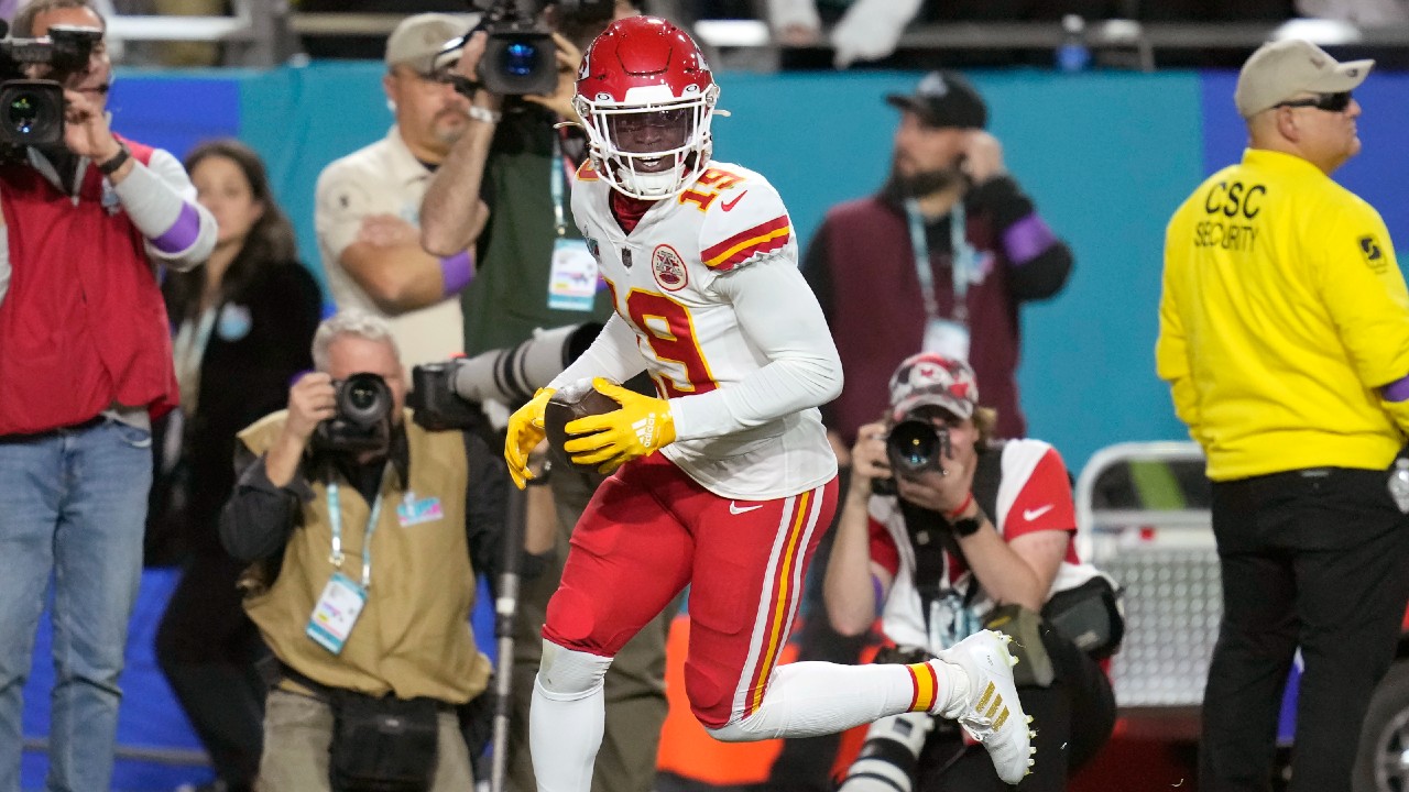
[[[558,89],[545,96],[490,93],[479,85],[488,34],[476,31],[465,45],[455,73],[475,86],[471,124],[426,190],[421,242],[435,255],[476,251],[475,280],[461,295],[465,351],[471,355],[514,347],[540,327],[604,323],[612,314],[571,206],[578,168],[588,158],[586,134],[576,125],[555,124],[578,121],[572,96],[582,49],[613,17],[635,13],[634,4],[624,0],[582,3],[578,13],[550,3],[541,23],[554,31]],[[486,207],[488,224],[476,234]],[[572,282],[583,287],[571,289]],[[514,789],[535,788],[528,757],[528,702],[538,671],[540,629],[562,574],[571,530],[596,486],[569,468],[555,469],[545,483],[557,505],[558,551],[551,569],[520,590],[507,757]],[[535,507],[530,497],[530,520]],[[607,736],[593,776],[595,792],[652,789],[668,709],[665,637],[674,612],[666,609],[641,630],[607,672]]]

